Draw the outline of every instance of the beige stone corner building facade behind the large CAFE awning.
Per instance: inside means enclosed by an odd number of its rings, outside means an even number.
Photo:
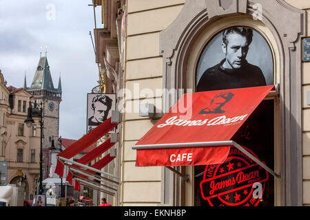
[[[118,95],[118,111],[123,113],[118,126],[118,205],[211,205],[200,191],[205,166],[175,167],[188,175],[184,181],[165,167],[137,167],[132,146],[176,103],[179,89],[183,93],[213,90],[211,85],[198,88],[201,77],[225,58],[216,50],[226,50],[227,56],[229,44],[222,42],[225,31],[244,28],[253,33],[247,61],[260,67],[266,85],[276,85],[278,95],[266,98],[254,112],[257,118],[234,138],[249,144],[280,174],[266,181],[260,206],[309,206],[310,81],[309,63],[303,58],[310,28],[307,1],[103,0],[94,4],[103,8],[105,27],[95,30],[96,63],[105,69],[107,92]],[[143,103],[154,104],[155,114],[141,116],[137,109]]]

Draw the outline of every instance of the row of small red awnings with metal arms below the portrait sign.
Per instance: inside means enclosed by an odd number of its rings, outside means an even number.
[[[99,126],[96,126],[95,129],[93,129],[92,131],[81,137],[81,139],[74,142],[74,144],[59,153],[57,155],[57,165],[55,173],[63,177],[63,170],[64,166],[66,165],[69,168],[66,180],[70,184],[72,184],[72,178],[75,177],[75,190],[79,190],[79,192],[81,192],[82,184],[84,186],[101,190],[103,192],[106,192],[107,194],[114,195],[117,190],[117,188],[115,187],[118,186],[118,181],[115,181],[111,178],[109,179],[107,177],[103,177],[103,175],[113,177],[114,179],[118,179],[118,177],[110,175],[109,173],[105,173],[101,171],[101,169],[107,164],[109,164],[115,158],[115,156],[111,156],[109,153],[92,166],[87,166],[87,164],[89,164],[94,159],[101,156],[107,150],[112,148],[112,146],[114,146],[115,143],[112,143],[110,138],[103,142],[101,145],[94,148],[94,150],[90,151],[90,153],[87,153],[86,155],[81,157],[81,159],[77,160],[76,162],[70,159],[84,151],[101,137],[106,135],[109,131],[114,129],[114,127],[116,127],[118,123],[119,122],[112,123],[112,118],[108,118],[107,120],[105,120],[105,122],[101,123]],[[103,175],[97,175],[96,173],[101,173]],[[106,184],[102,184],[102,182],[105,182]],[[114,187],[107,186],[109,184],[112,184]]]

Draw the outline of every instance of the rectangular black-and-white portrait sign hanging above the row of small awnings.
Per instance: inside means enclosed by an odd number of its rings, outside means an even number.
[[[87,94],[87,132],[111,117],[115,94]]]

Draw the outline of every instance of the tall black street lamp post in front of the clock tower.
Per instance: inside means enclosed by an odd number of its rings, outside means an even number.
[[[33,109],[32,109],[33,104]],[[25,119],[25,124],[30,128],[32,126],[32,123],[34,123],[33,117],[39,118],[39,124],[40,124],[40,177],[39,177],[39,195],[43,195],[43,185],[42,185],[42,164],[43,164],[43,154],[42,154],[42,140],[43,140],[43,104],[42,102],[40,104],[37,103],[37,100],[34,100],[34,102],[29,102],[29,108],[28,108],[28,115]]]

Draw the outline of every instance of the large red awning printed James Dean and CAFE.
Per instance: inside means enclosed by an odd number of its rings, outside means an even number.
[[[185,94],[132,148],[136,166],[225,162],[229,141],[274,86]]]

